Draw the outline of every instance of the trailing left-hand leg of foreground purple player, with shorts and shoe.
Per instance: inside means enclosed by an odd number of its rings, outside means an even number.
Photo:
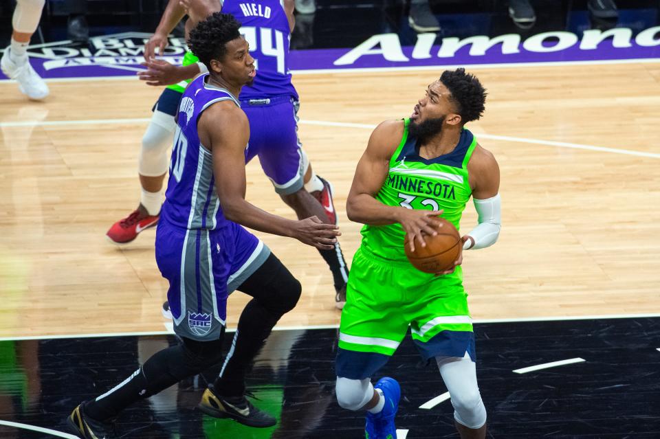
[[[124,408],[221,361],[228,269],[222,260],[212,260],[211,243],[217,244],[217,236],[197,232],[161,223],[156,235],[156,262],[169,282],[168,300],[181,344],[153,354],[122,383],[78,405],[69,426],[79,436],[114,437],[111,420]]]

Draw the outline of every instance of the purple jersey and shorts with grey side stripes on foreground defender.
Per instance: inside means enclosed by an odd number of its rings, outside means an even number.
[[[197,340],[218,339],[228,294],[267,259],[270,250],[222,213],[212,155],[199,141],[197,121],[216,102],[239,105],[225,89],[193,80],[177,111],[170,177],[156,231],[156,262],[170,282],[167,292],[175,332]]]

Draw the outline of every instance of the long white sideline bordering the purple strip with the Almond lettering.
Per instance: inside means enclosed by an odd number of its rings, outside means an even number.
[[[56,44],[60,44],[57,42]],[[36,46],[32,46],[36,47]],[[1,51],[0,51],[1,52]],[[39,56],[40,58],[43,56]],[[408,66],[408,67],[360,67],[360,68],[347,68],[347,69],[309,69],[309,70],[292,70],[294,76],[298,75],[316,75],[316,74],[373,74],[388,71],[439,71],[444,69],[456,69],[457,67],[465,67],[465,69],[507,69],[518,67],[566,67],[573,65],[618,65],[618,64],[649,64],[659,63],[660,58],[633,58],[625,60],[584,60],[584,61],[549,61],[547,63],[498,63],[498,64],[445,64],[445,65],[422,65],[422,66]],[[102,80],[137,80],[135,76],[102,76],[92,77],[77,76],[72,78],[48,78],[46,82],[83,82],[83,81],[102,81]],[[10,79],[1,79],[2,82],[10,82]]]

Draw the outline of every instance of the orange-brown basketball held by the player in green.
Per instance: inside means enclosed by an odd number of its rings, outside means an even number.
[[[454,261],[459,258],[462,245],[459,231],[443,218],[437,218],[437,221],[441,223],[437,228],[438,234],[424,236],[426,247],[416,242],[415,251],[410,251],[410,247],[404,245],[410,263],[424,273],[440,273],[451,269]],[[404,242],[408,243],[408,234]]]

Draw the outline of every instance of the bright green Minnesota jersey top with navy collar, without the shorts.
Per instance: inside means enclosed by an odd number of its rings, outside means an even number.
[[[451,153],[424,159],[419,156],[417,139],[408,136],[409,119],[404,119],[404,135],[390,159],[390,169],[376,199],[385,205],[408,209],[443,210],[442,217],[459,228],[461,215],[472,189],[467,162],[476,147],[476,137],[463,129]],[[388,260],[406,260],[401,224],[365,225],[362,247]],[[459,273],[457,273],[459,274]]]

